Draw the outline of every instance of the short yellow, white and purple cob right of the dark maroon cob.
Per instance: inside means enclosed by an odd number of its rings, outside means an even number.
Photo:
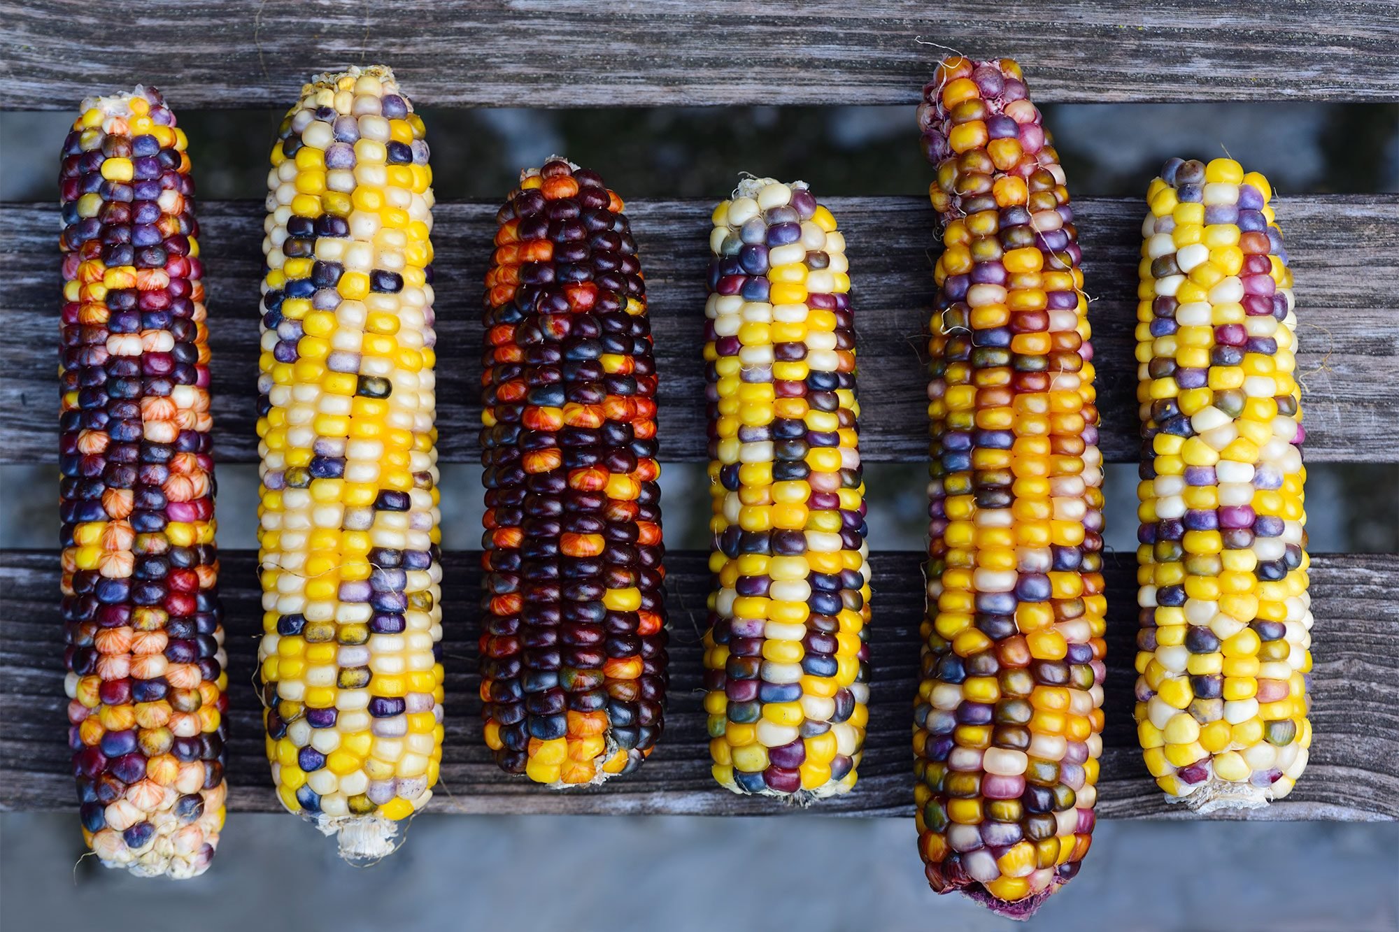
[[[712,220],[709,751],[733,792],[807,802],[855,785],[869,721],[845,238],[803,182],[746,179]]]

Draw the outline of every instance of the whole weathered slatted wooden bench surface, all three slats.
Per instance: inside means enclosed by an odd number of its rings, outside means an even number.
[[[112,11],[102,7],[0,0],[0,109],[71,112],[85,95],[139,81],[165,90],[182,111],[281,109],[313,70],[381,62],[395,67],[420,106],[912,105],[944,53],[928,43],[1018,59],[1041,102],[1399,101],[1393,11],[1385,0],[1179,0],[1130,10],[1101,0],[145,0],[123,10],[115,28]],[[262,151],[266,143],[250,144]],[[624,181],[611,181],[625,196]],[[828,203],[849,238],[862,453],[870,462],[923,460],[922,333],[937,250],[932,210],[914,196]],[[669,462],[705,458],[698,346],[711,206],[628,206],[652,301],[663,374],[662,458]],[[1083,199],[1074,206],[1093,297],[1102,451],[1108,460],[1132,462],[1143,209],[1136,199]],[[208,266],[215,452],[224,463],[256,459],[262,210],[260,202],[208,202],[199,209]],[[1307,458],[1399,462],[1399,381],[1392,378],[1399,371],[1399,195],[1284,192],[1277,211],[1297,271]],[[443,203],[436,210],[443,462],[477,458],[477,320],[494,214],[494,203]],[[11,346],[0,365],[0,465],[56,460],[56,236],[52,204],[0,204],[0,319]],[[1118,514],[1108,519],[1135,521]],[[277,807],[252,687],[260,633],[255,560],[249,551],[225,551],[221,575],[235,810]],[[912,807],[909,728],[922,556],[876,550],[872,563],[874,683],[860,781],[855,792],[816,805],[813,813],[907,816]],[[734,796],[709,778],[698,647],[709,577],[705,554],[694,551],[667,558],[672,690],[666,733],[653,757],[638,774],[600,789],[554,792],[502,774],[480,735],[477,567],[476,553],[445,556],[448,739],[436,812],[799,812]],[[1108,725],[1098,813],[1189,817],[1163,800],[1136,747],[1132,554],[1109,554],[1107,575]],[[0,550],[0,810],[74,806],[57,577],[56,551]],[[1399,554],[1318,554],[1311,592],[1311,764],[1288,799],[1247,817],[1399,819]]]

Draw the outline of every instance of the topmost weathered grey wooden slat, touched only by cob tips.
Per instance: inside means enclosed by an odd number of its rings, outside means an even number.
[[[0,3],[0,108],[137,81],[175,106],[292,104],[312,71],[392,64],[418,104],[912,104],[944,50],[1020,60],[1039,101],[1399,98],[1372,1],[81,0]],[[144,41],[140,38],[144,36]]]

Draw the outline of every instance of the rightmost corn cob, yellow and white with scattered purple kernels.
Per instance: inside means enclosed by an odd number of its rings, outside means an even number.
[[[1172,158],[1137,291],[1137,737],[1167,799],[1280,799],[1307,767],[1311,599],[1297,318],[1258,172]]]

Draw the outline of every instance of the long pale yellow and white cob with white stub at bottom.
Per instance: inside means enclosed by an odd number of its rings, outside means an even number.
[[[432,174],[386,67],[322,74],[267,176],[259,649],[281,803],[393,849],[442,756]]]

